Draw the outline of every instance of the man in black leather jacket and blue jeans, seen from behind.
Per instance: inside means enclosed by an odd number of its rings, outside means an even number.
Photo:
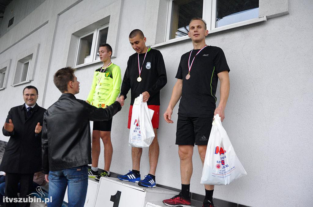
[[[79,82],[74,69],[62,68],[54,74],[54,84],[62,92],[44,113],[42,161],[49,182],[48,207],[61,206],[68,185],[69,206],[84,206],[91,163],[89,121],[107,121],[121,109],[122,101],[107,108],[96,108],[76,99]],[[49,174],[49,176],[48,176]]]

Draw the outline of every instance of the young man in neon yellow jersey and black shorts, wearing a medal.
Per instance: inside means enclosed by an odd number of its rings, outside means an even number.
[[[87,103],[105,108],[115,102],[120,93],[121,69],[111,62],[112,47],[109,44],[99,46],[100,61],[103,66],[95,70],[91,90]],[[92,131],[92,165],[89,170],[89,177],[99,180],[101,176],[110,176],[110,165],[112,161],[113,147],[111,143],[112,119],[109,121],[94,122]],[[98,174],[98,161],[100,156],[100,138],[104,145],[104,172]]]

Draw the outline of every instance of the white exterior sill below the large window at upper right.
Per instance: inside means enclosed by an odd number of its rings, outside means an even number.
[[[243,21],[243,22],[238,22],[238,23],[234,23],[234,24],[230,24],[230,25],[225,25],[225,26],[221,26],[221,27],[215,28],[213,30],[210,30],[209,31],[209,35],[212,34],[212,33],[215,33],[215,32],[225,31],[225,30],[233,29],[233,28],[240,27],[240,26],[254,24],[254,23],[257,23],[257,22],[266,22],[266,21],[267,21],[267,18],[266,18],[266,16],[264,16],[264,17],[261,17],[261,18],[255,18],[255,19],[250,19],[250,20],[246,20],[246,21]],[[156,44],[156,45],[151,45],[151,48],[157,48],[157,47],[169,45],[169,44],[172,44],[172,43],[175,43],[175,42],[185,41],[185,40],[188,40],[188,39],[190,39],[190,38],[186,35],[186,36],[175,38],[175,39],[172,39],[172,40],[168,40],[166,42],[162,42],[162,43],[159,43],[159,44]]]

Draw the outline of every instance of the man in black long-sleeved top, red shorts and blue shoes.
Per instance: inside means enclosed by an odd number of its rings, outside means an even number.
[[[140,159],[142,148],[132,147],[132,171],[126,175],[117,176],[122,181],[138,183],[140,186],[156,187],[155,172],[159,158],[159,143],[157,142],[156,129],[159,128],[160,117],[160,90],[167,82],[165,64],[160,51],[146,47],[146,37],[141,30],[133,30],[129,35],[132,48],[136,51],[127,62],[127,68],[121,86],[120,98],[124,101],[131,89],[131,106],[128,115],[128,128],[131,127],[131,112],[135,99],[142,94],[143,102],[147,102],[148,108],[154,110],[152,127],[155,137],[149,147],[150,171],[144,180],[140,180]]]

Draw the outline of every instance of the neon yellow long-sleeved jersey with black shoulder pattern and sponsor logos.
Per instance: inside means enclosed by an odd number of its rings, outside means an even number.
[[[120,94],[121,69],[115,64],[110,64],[105,70],[98,68],[95,71],[91,89],[87,100],[97,108],[105,108],[115,102]]]

